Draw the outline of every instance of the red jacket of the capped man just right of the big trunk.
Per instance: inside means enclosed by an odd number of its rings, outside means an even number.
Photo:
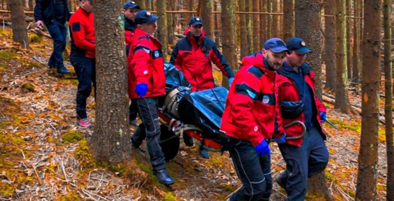
[[[138,83],[148,85],[142,98],[157,97],[165,94],[164,60],[162,43],[152,35],[137,28],[131,38],[128,55],[129,97],[140,98],[135,93]]]

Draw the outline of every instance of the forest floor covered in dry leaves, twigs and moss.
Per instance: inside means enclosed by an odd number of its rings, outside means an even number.
[[[46,67],[52,52],[48,38],[29,33],[31,51],[12,43],[10,29],[0,29],[0,200],[1,201],[225,201],[240,187],[229,154],[198,156],[197,146],[181,148],[167,169],[175,179],[171,188],[152,175],[146,146],[133,149],[130,164],[110,165],[96,161],[87,141],[93,132],[75,122],[77,79],[60,76]],[[221,74],[215,70],[221,83]],[[329,93],[329,92],[327,92]],[[351,101],[360,103],[360,91]],[[93,97],[93,96],[92,96]],[[94,122],[95,102],[88,99],[88,116]],[[381,105],[384,99],[380,100]],[[338,201],[355,200],[361,117],[344,115],[326,103],[328,118],[340,130],[325,123],[329,133],[330,160],[326,169],[329,192]],[[377,192],[386,194],[386,149],[384,126],[379,125]],[[132,133],[135,128],[131,127]],[[275,143],[273,177],[285,169]],[[272,201],[282,201],[286,192],[274,182]],[[308,195],[308,201],[322,201]]]

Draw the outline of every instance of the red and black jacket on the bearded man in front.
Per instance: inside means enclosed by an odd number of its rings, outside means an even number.
[[[221,131],[230,137],[247,140],[257,146],[263,139],[283,135],[278,113],[275,71],[267,68],[262,54],[242,59],[230,86]]]

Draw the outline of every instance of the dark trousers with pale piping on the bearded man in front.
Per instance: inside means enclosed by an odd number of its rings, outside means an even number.
[[[271,159],[259,157],[250,141],[227,136],[227,147],[242,187],[230,201],[268,201],[272,193]]]

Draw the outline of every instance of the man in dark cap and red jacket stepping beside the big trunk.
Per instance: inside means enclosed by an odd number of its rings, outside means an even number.
[[[139,117],[142,120],[131,137],[134,148],[147,138],[148,152],[153,174],[164,185],[174,184],[165,170],[165,161],[160,146],[160,124],[158,116],[158,97],[165,94],[164,60],[162,43],[153,35],[157,30],[159,17],[141,10],[135,16],[138,27],[131,39],[128,57],[129,96],[136,101]]]

